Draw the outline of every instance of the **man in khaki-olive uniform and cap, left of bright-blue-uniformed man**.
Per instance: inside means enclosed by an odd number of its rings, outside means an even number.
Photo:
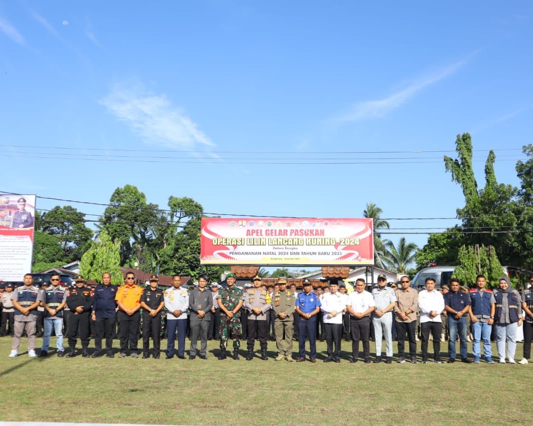
[[[272,310],[276,314],[274,329],[276,330],[276,347],[278,356],[276,361],[293,361],[293,315],[296,297],[287,290],[287,278],[278,278],[279,290],[274,291]]]

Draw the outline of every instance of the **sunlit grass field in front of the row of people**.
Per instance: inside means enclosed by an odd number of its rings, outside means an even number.
[[[26,347],[23,338],[21,355],[8,358],[11,338],[0,338],[1,421],[484,425],[531,424],[533,411],[533,363],[350,364],[346,341],[340,364],[322,362],[321,342],[316,364],[219,361],[213,341],[206,361],[167,360],[164,354],[69,359],[53,350],[47,358],[29,358]],[[275,348],[269,342],[271,358]],[[519,343],[516,358],[521,355]]]

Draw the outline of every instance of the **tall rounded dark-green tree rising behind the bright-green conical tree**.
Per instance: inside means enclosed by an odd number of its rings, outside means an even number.
[[[111,240],[120,243],[120,261],[123,265],[134,256],[134,244],[139,247],[150,244],[157,209],[157,204],[147,203],[146,195],[133,185],[117,188],[111,195],[100,222]]]

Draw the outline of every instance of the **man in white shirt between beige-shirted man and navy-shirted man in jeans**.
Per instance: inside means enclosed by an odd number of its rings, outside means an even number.
[[[433,362],[442,364],[440,359],[440,333],[442,331],[441,312],[444,310],[444,298],[435,290],[435,280],[427,277],[425,290],[418,293],[420,308],[420,328],[422,330],[422,364],[427,363],[427,345],[430,333],[433,337]]]

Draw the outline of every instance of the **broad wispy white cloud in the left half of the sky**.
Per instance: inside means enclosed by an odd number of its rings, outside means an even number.
[[[196,123],[165,95],[115,88],[101,103],[147,141],[172,148],[214,146]]]

